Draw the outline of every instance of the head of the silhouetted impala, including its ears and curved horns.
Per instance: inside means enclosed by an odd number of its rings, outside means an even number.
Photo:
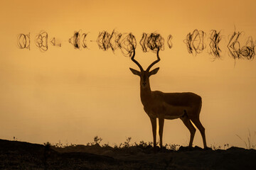
[[[157,52],[156,52],[156,56],[157,56],[157,60],[152,62],[149,67],[144,70],[141,66],[141,64],[139,64],[139,62],[137,62],[134,57],[135,57],[135,48],[133,47],[134,49],[134,53],[132,55],[132,61],[135,62],[135,64],[137,64],[137,66],[139,67],[140,69],[140,72],[136,69],[132,69],[132,68],[129,68],[133,74],[137,75],[140,77],[140,85],[145,88],[146,86],[149,86],[149,77],[151,75],[154,75],[156,74],[158,71],[159,71],[159,67],[157,67],[156,69],[153,69],[150,71],[151,67],[154,66],[154,64],[156,64],[157,62],[160,61],[160,57],[159,57],[159,50],[160,50],[160,47],[158,48]]]

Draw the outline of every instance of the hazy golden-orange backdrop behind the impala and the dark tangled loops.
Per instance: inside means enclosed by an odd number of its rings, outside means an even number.
[[[156,60],[142,52],[142,33],[173,35],[173,47],[160,51],[159,73],[151,89],[192,91],[203,98],[201,123],[208,146],[245,147],[248,130],[256,130],[256,61],[236,60],[226,45],[234,30],[241,45],[256,38],[256,2],[242,1],[1,1],[0,2],[0,138],[26,142],[86,144],[152,141],[151,124],[139,96],[138,69],[120,50],[102,51],[95,40],[102,30],[133,33],[136,58],[146,68]],[[206,50],[188,54],[183,40],[194,29],[206,32]],[[221,30],[222,60],[208,55],[210,30]],[[57,38],[41,52],[35,37],[41,30]],[[87,35],[87,50],[68,42],[75,30]],[[19,33],[31,33],[31,50],[18,49]],[[90,40],[93,40],[90,42]],[[166,120],[164,143],[188,145],[181,120]],[[256,141],[256,139],[255,139]],[[194,145],[203,146],[199,130]]]

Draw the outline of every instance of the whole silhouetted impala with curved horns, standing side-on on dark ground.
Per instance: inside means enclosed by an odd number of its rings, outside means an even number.
[[[140,96],[144,106],[144,111],[151,120],[154,147],[156,147],[156,118],[159,119],[159,137],[160,147],[163,146],[163,129],[164,119],[172,120],[180,118],[184,125],[191,133],[188,147],[192,147],[193,138],[196,133],[196,128],[201,132],[203,138],[203,147],[206,149],[206,135],[205,128],[199,120],[199,114],[202,107],[202,98],[197,94],[191,92],[186,93],[163,93],[161,91],[151,91],[149,84],[149,77],[159,71],[159,67],[150,71],[151,67],[160,61],[159,49],[156,52],[157,60],[152,62],[144,71],[142,66],[137,62],[135,57],[135,48],[133,47],[132,61],[137,64],[140,72],[136,69],[129,68],[133,74],[140,77]],[[191,123],[196,125],[196,128]]]

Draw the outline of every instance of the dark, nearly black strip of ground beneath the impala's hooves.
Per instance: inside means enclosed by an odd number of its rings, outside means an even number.
[[[230,147],[178,151],[151,146],[65,148],[0,140],[0,169],[256,169],[256,150]]]

